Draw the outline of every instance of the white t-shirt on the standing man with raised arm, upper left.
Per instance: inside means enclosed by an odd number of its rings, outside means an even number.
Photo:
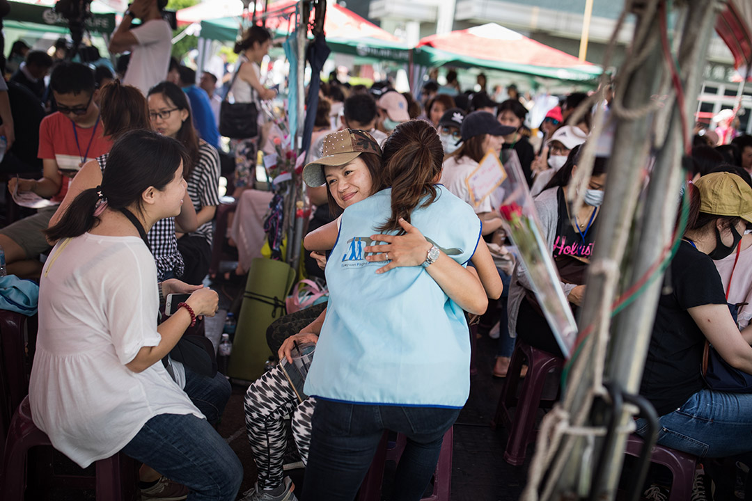
[[[151,87],[167,77],[172,30],[167,21],[153,19],[135,27],[131,33],[138,45],[131,48],[131,60],[123,83],[138,87],[147,95]]]

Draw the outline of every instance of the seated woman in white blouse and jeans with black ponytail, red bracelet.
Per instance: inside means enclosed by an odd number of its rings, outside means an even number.
[[[59,241],[40,283],[29,399],[35,424],[80,466],[123,451],[186,485],[192,501],[230,500],[238,457],[162,365],[197,315],[214,315],[217,293],[196,288],[157,326],[146,243],[154,222],[180,212],[186,161],[174,139],[123,135],[102,185],[81,192],[47,231]]]

